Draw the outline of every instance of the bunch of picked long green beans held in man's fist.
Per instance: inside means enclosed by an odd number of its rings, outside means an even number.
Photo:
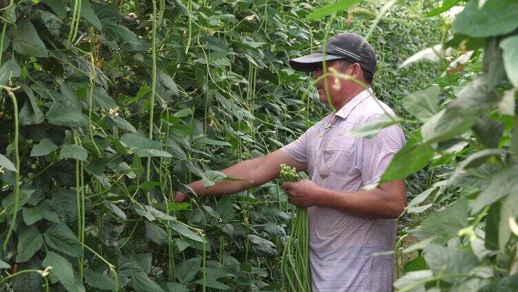
[[[300,180],[295,167],[284,164],[280,165],[280,178],[285,182]],[[291,291],[311,291],[307,208],[297,206],[294,215],[291,218],[289,239],[281,258],[282,291],[289,291],[286,289],[286,282],[290,283]],[[293,278],[296,280],[296,285],[293,284]]]

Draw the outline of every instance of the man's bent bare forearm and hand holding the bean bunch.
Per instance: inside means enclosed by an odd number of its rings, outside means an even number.
[[[404,180],[384,183],[371,190],[351,192],[324,189],[311,180],[284,183],[282,187],[295,205],[328,207],[367,218],[397,218],[406,207]]]

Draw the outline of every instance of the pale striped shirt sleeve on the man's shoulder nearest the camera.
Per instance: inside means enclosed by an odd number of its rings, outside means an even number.
[[[375,114],[369,117],[367,123],[380,116]],[[362,138],[358,143],[357,152],[357,168],[362,173],[362,185],[379,182],[386,167],[404,144],[404,133],[399,125],[386,127],[372,138]]]

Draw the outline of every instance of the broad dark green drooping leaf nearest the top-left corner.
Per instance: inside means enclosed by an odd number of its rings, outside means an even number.
[[[26,54],[35,57],[47,57],[48,50],[39,38],[38,32],[30,21],[17,23],[17,31],[12,39],[12,48],[18,54]]]

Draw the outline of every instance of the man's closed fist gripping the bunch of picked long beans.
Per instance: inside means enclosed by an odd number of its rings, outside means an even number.
[[[282,187],[289,196],[289,202],[300,207],[318,205],[320,187],[311,180],[300,180],[296,183],[283,183]]]

